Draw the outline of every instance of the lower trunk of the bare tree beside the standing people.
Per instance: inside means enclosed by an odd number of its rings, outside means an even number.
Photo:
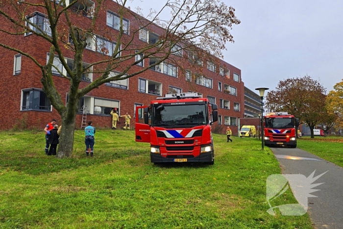
[[[71,119],[67,115],[62,116],[61,136],[56,155],[58,158],[70,157],[73,153],[76,112],[73,116]]]

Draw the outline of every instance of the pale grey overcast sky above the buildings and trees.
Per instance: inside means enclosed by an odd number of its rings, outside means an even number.
[[[165,0],[133,0],[144,12]],[[342,0],[224,0],[241,20],[231,30],[224,61],[242,70],[249,89],[275,89],[279,80],[312,76],[327,89],[343,78]]]

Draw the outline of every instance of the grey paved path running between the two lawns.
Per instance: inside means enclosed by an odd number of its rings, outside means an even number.
[[[308,198],[308,213],[316,229],[343,229],[343,168],[300,149],[270,150],[282,165],[283,174],[308,177],[316,170],[315,177],[328,171],[314,182],[324,183],[314,188],[320,190],[312,193],[317,197]]]

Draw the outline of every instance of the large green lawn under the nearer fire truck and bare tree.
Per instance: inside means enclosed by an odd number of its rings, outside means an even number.
[[[72,158],[44,152],[44,133],[0,132],[0,229],[312,229],[309,216],[267,213],[266,179],[281,170],[260,141],[213,134],[213,166],[155,166],[134,131],[75,131]],[[300,143],[299,145],[301,145]],[[291,192],[276,201],[296,203]]]

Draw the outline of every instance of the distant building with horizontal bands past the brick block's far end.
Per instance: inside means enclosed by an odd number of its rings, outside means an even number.
[[[244,117],[256,118],[261,112],[261,97],[249,88],[244,87]]]

